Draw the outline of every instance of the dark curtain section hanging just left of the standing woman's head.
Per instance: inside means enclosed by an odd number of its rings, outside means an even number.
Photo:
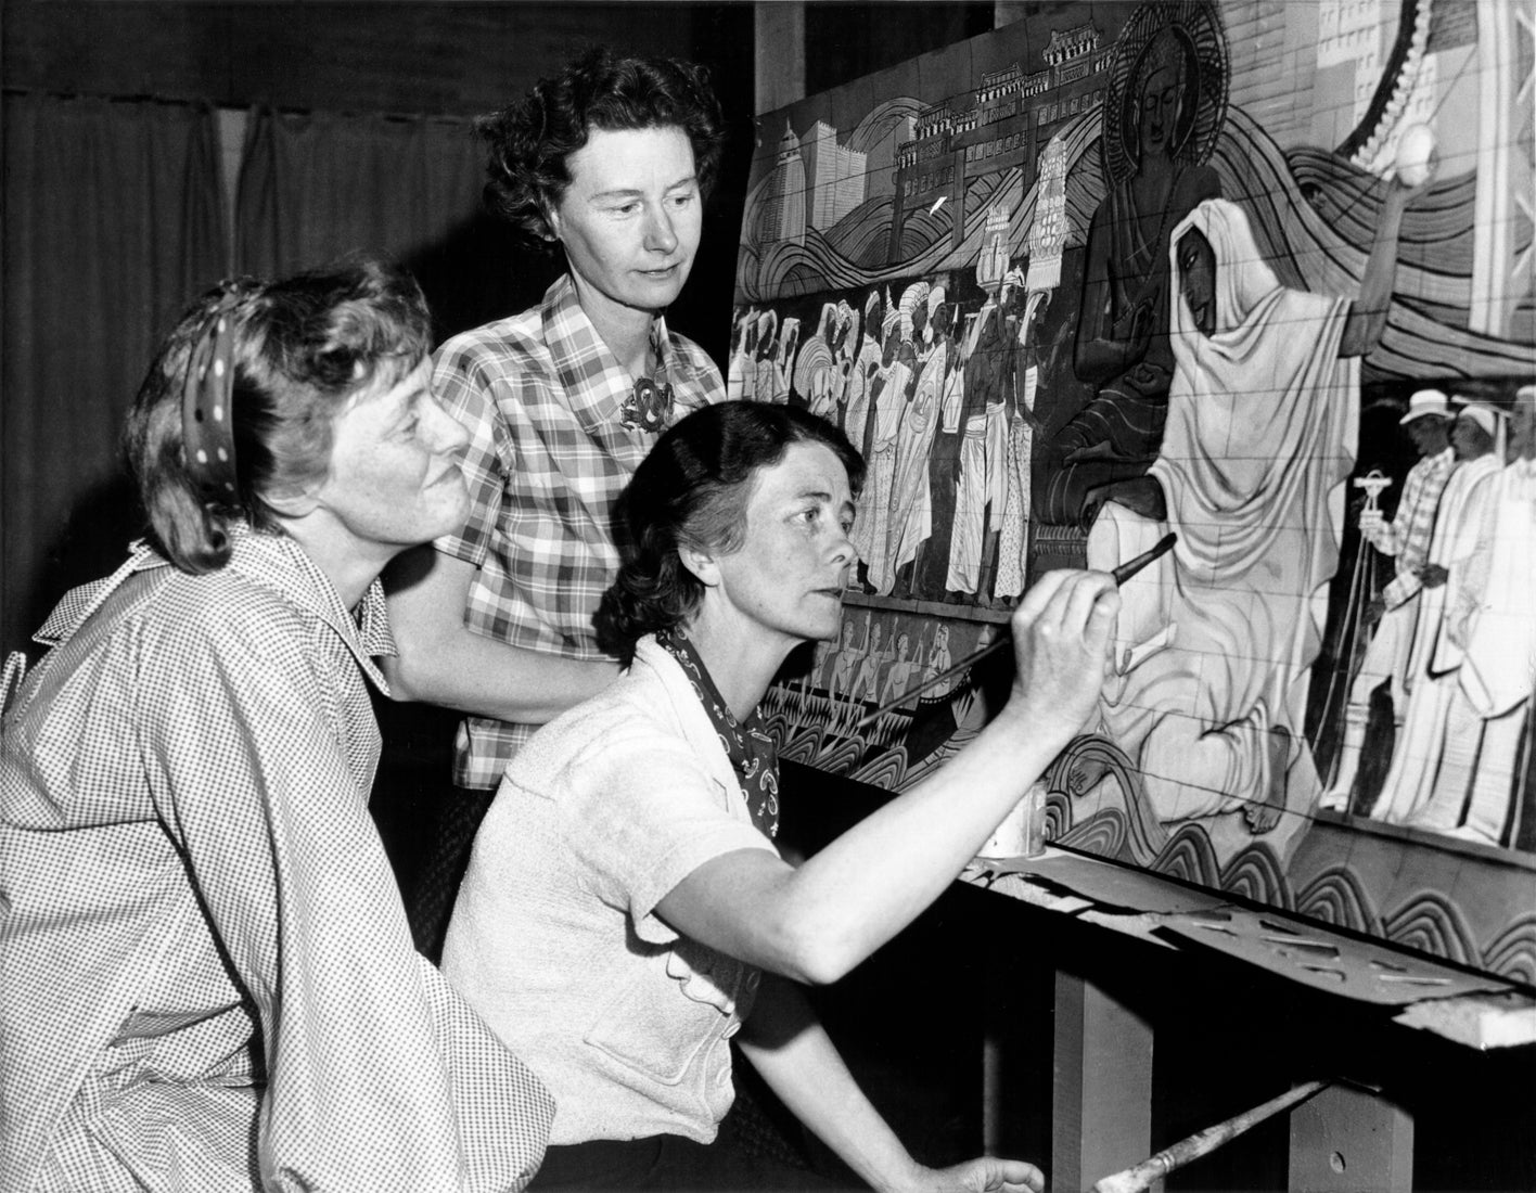
[[[355,252],[409,267],[439,338],[533,302],[553,279],[481,204],[485,155],[468,120],[250,114],[235,261],[260,276]]]

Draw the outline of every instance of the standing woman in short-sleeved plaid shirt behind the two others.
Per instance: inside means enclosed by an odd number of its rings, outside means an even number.
[[[538,306],[438,349],[433,384],[470,433],[468,516],[389,576],[396,697],[468,714],[455,786],[421,826],[422,889],[406,880],[429,955],[507,763],[617,676],[591,620],[619,567],[614,501],[660,431],[725,398],[667,324],[723,141],[703,71],[596,49],[478,127],[487,206],[567,270]]]

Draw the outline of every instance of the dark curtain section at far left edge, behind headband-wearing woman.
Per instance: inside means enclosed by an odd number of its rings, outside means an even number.
[[[6,95],[0,649],[141,530],[118,454],[155,344],[224,272],[204,106]]]

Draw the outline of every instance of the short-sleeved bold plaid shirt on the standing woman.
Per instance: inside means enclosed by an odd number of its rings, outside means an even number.
[[[676,392],[673,421],[725,398],[720,370],[697,344],[662,319],[653,339]],[[513,646],[602,659],[591,619],[619,570],[610,516],[656,435],[624,425],[621,404],[634,381],[582,312],[570,276],[538,307],[438,349],[433,387],[470,431],[470,519],[438,540],[439,551],[478,568],[464,623]],[[535,728],[467,719],[455,782],[495,788]]]

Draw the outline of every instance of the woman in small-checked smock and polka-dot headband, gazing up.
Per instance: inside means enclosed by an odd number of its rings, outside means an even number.
[[[49,617],[0,737],[6,1193],[538,1165],[550,1098],[413,952],[367,811],[376,577],[467,504],[427,335],[355,264],[214,290],[149,370],[149,544]]]

